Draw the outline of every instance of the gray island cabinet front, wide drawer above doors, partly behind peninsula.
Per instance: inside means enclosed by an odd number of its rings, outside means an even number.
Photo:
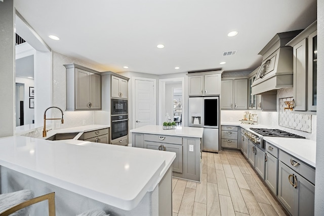
[[[172,171],[182,173],[182,145],[144,141],[144,148],[175,152],[176,159],[172,163]]]

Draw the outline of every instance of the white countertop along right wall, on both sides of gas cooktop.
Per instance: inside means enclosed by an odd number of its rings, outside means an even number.
[[[241,124],[240,122],[221,122],[221,125],[240,126],[248,129],[272,128],[262,124]],[[255,133],[255,132],[253,132]],[[309,139],[285,138],[285,137],[263,137],[263,140],[271,143],[279,149],[293,155],[303,162],[315,167],[316,165],[316,142]]]

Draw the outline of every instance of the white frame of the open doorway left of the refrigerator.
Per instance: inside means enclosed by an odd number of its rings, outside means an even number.
[[[184,77],[176,77],[176,78],[168,78],[168,79],[159,79],[158,80],[158,104],[159,104],[159,109],[158,109],[158,123],[159,125],[162,125],[164,122],[164,117],[165,113],[162,113],[163,110],[161,109],[161,105],[163,104],[163,101],[166,100],[166,82],[170,81],[181,81],[181,86],[182,86],[182,125],[185,125],[185,87],[184,87]]]

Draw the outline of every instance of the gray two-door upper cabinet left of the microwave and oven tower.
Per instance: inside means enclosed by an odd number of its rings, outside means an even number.
[[[101,75],[89,68],[68,64],[66,67],[66,110],[101,109]]]

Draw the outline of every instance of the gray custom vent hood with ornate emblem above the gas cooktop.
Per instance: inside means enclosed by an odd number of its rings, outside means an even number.
[[[293,48],[286,46],[302,30],[277,33],[260,51],[262,64],[252,84],[253,95],[276,94],[293,87]]]

